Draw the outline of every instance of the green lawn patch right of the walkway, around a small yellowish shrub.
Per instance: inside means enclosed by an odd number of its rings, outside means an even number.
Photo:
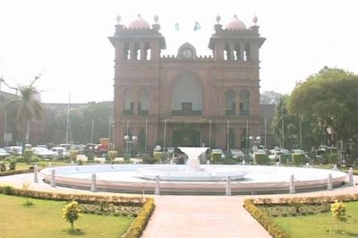
[[[281,226],[291,237],[314,237],[314,238],[345,238],[358,236],[358,202],[345,202],[347,216],[346,223],[340,223],[339,229],[345,234],[335,234],[336,220],[331,212],[319,215],[302,217],[273,217],[272,220]]]

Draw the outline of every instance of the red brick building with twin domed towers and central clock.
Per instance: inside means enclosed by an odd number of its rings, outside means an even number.
[[[265,38],[257,18],[247,28],[234,17],[225,27],[217,16],[208,39],[212,55],[201,56],[189,42],[175,56],[163,55],[166,39],[158,16],[115,25],[115,148],[124,135],[137,136],[132,151],[177,146],[245,149],[259,136],[260,59]],[[250,146],[250,144],[249,144]]]

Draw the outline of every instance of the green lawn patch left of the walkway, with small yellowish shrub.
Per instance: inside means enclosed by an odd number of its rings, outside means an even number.
[[[0,194],[1,237],[120,237],[131,225],[133,217],[112,217],[85,214],[70,223],[62,217],[64,201],[30,199],[32,206],[24,206],[26,199]]]

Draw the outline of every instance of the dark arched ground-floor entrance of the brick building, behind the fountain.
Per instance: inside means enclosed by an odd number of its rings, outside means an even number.
[[[182,129],[173,132],[175,147],[200,147],[200,132],[191,129]]]

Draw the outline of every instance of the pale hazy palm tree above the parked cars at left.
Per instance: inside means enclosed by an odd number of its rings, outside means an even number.
[[[16,89],[16,96],[5,106],[5,111],[10,119],[9,122],[13,123],[16,131],[21,135],[22,145],[25,139],[25,129],[33,120],[38,120],[44,114],[44,109],[41,102],[34,98],[37,90],[33,87],[35,81],[39,76],[35,77],[35,80],[30,83],[29,86],[20,86]],[[18,92],[20,91],[20,95]]]

